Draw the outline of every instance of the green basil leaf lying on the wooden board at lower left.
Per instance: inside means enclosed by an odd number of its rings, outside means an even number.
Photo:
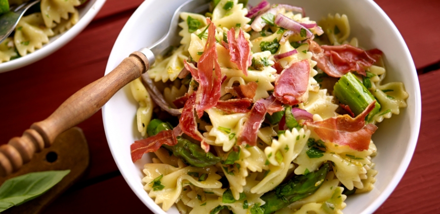
[[[32,172],[6,180],[0,186],[0,212],[42,195],[69,173],[70,170]]]

